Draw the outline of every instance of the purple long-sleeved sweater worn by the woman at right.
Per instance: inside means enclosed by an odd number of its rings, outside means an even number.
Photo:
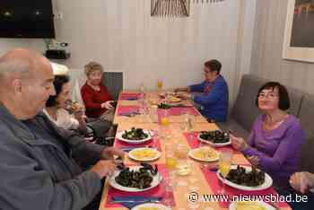
[[[304,141],[300,121],[292,115],[272,131],[263,129],[266,115],[260,115],[254,122],[249,136],[246,155],[259,158],[259,168],[268,173],[275,186],[288,187],[289,178],[298,170],[301,159],[301,144]]]

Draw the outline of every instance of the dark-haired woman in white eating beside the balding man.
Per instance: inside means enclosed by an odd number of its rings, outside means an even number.
[[[55,76],[54,86],[56,95],[50,96],[46,102],[44,112],[48,118],[58,127],[65,129],[78,129],[81,133],[87,133],[86,117],[84,116],[83,107],[78,104],[72,106],[73,115],[66,110],[69,106],[70,99],[70,78],[66,74]]]

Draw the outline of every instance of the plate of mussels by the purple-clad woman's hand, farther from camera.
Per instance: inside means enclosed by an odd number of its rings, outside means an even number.
[[[198,140],[216,147],[231,144],[229,133],[220,130],[201,131]]]

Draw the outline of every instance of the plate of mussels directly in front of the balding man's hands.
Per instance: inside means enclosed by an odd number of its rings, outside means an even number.
[[[109,179],[109,184],[126,192],[143,192],[157,187],[161,183],[161,174],[157,165],[141,163],[126,167],[124,164],[118,165],[118,171]]]

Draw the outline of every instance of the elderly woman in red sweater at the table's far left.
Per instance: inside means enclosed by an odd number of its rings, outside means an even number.
[[[114,107],[111,103],[113,101],[107,87],[100,83],[103,67],[96,62],[90,62],[84,68],[87,81],[81,89],[81,94],[85,103],[86,116],[112,121]]]

